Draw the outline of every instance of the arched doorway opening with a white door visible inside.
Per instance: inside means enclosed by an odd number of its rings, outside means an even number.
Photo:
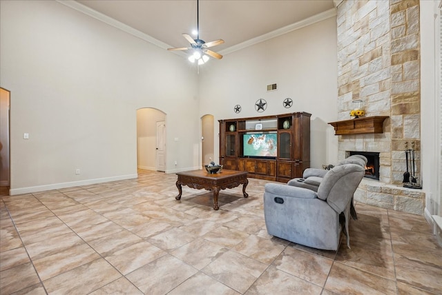
[[[137,168],[166,171],[166,114],[154,108],[137,110]]]

